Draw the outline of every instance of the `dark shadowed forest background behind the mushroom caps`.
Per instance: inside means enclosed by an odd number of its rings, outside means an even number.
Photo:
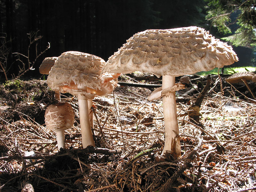
[[[8,77],[18,74],[20,61],[12,53],[28,56],[28,34],[38,31],[42,38],[31,45],[29,60],[35,60],[36,52],[43,52],[48,42],[50,48],[37,58],[35,70],[25,74],[37,77],[45,57],[80,51],[108,60],[126,39],[150,28],[198,26],[220,38],[205,19],[206,9],[204,0],[0,0],[0,46],[8,50],[0,57],[6,56],[2,63]],[[250,65],[250,49],[234,50],[240,63]],[[20,59],[26,63],[24,56]]]

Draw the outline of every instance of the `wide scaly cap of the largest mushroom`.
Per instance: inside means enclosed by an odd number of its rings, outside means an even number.
[[[231,46],[199,27],[148,29],[127,40],[103,69],[109,73],[148,72],[181,76],[238,61]]]

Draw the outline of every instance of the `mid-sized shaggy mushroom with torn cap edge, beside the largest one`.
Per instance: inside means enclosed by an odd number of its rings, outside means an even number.
[[[53,90],[77,95],[83,148],[95,146],[88,101],[96,95],[112,92],[117,82],[111,74],[102,74],[105,61],[100,57],[83,52],[62,53],[52,67],[47,83]]]

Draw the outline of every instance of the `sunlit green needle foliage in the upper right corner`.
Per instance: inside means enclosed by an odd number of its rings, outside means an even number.
[[[256,45],[256,0],[205,0],[208,5],[206,19],[223,34],[222,39],[235,46]],[[236,16],[231,20],[232,16]]]

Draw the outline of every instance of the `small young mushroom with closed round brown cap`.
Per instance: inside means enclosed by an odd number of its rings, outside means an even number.
[[[56,132],[58,150],[65,145],[65,129],[69,129],[74,124],[74,111],[67,102],[49,105],[45,111],[45,124],[48,129]]]

